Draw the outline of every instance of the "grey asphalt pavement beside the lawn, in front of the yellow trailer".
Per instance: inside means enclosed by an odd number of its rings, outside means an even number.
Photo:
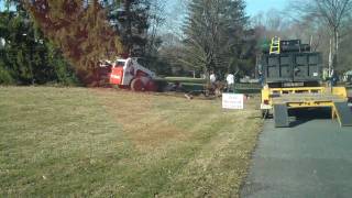
[[[266,121],[241,197],[352,196],[352,128],[316,113],[286,129]]]

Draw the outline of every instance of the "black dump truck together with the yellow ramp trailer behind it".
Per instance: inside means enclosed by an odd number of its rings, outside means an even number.
[[[276,127],[289,127],[288,110],[304,108],[330,108],[332,119],[352,125],[346,89],[322,84],[322,54],[308,44],[274,37],[258,64],[265,85],[261,109],[264,117],[273,114]]]

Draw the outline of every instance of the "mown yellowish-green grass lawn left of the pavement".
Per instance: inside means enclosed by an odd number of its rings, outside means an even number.
[[[0,87],[0,197],[238,197],[257,105]]]

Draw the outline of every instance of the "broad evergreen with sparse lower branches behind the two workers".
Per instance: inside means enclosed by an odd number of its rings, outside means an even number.
[[[243,0],[191,0],[184,28],[188,68],[218,75],[235,72],[248,54]]]

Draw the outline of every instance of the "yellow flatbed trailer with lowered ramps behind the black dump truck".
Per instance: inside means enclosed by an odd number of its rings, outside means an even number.
[[[331,118],[341,125],[352,125],[352,111],[348,107],[345,87],[292,87],[262,89],[263,117],[273,113],[276,127],[289,127],[288,110],[330,108]]]

